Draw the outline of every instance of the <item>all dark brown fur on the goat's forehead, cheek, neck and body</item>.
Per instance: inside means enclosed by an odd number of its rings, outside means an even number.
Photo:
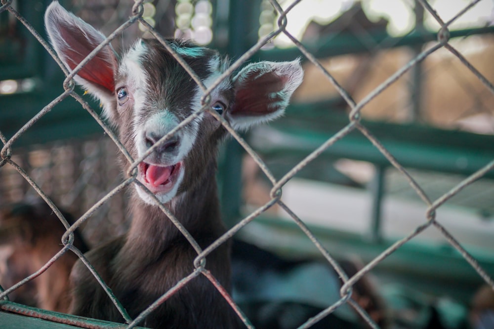
[[[192,95],[184,91],[194,90],[195,82],[170,58],[171,55],[160,43],[154,40],[145,42],[152,51],[146,54],[144,63],[152,63],[153,66],[144,65],[144,68],[152,82],[152,92],[159,95],[156,99],[163,102],[156,104],[151,99],[147,100],[149,104],[146,115],[162,108],[189,109]],[[215,53],[212,50],[210,52]],[[185,59],[204,78],[209,74],[205,68],[206,60],[211,54],[206,53],[199,59]],[[162,69],[157,70],[157,67]],[[175,95],[172,98],[169,95],[168,86],[172,85],[183,90],[183,97]],[[177,99],[180,100],[179,103]],[[130,113],[129,111],[122,116],[119,130],[124,146],[135,157],[133,138],[128,134],[131,120],[124,117]],[[181,120],[187,115],[188,113],[177,114],[183,117]],[[171,208],[198,244],[206,248],[224,233],[214,173],[217,143],[225,130],[210,117],[205,118],[202,124],[196,144],[184,159],[186,174],[177,194],[181,200],[173,202],[173,206],[171,203],[166,206]],[[121,163],[124,164],[125,172],[128,162],[122,157]],[[146,205],[133,194],[130,208],[133,221],[129,232],[91,250],[86,257],[124,305],[130,317],[135,318],[194,271],[193,262],[197,252],[157,206]],[[206,269],[228,291],[231,290],[229,249],[229,244],[224,244],[206,258]],[[82,262],[78,262],[74,268],[72,281],[75,288],[72,313],[123,322],[122,315]],[[152,328],[166,326],[229,329],[237,328],[238,321],[238,316],[217,289],[205,276],[200,275],[172,295],[140,325]]]

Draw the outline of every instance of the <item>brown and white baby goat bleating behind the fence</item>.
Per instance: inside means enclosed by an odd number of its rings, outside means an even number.
[[[64,64],[74,69],[105,37],[53,2],[45,25],[51,44]],[[224,72],[227,62],[211,49],[188,41],[167,41],[207,86]],[[302,81],[299,61],[247,65],[236,77],[211,93],[211,109],[235,129],[281,116]],[[121,57],[104,47],[74,78],[102,104],[103,113],[119,130],[133,159],[141,157],[172,128],[201,109],[202,90],[156,40],[137,40]],[[225,229],[220,219],[215,181],[218,142],[226,129],[203,113],[138,165],[137,179],[205,248]],[[122,157],[124,173],[129,164]],[[135,184],[136,185],[136,184]],[[197,252],[155,205],[135,186],[129,231],[87,253],[131,317],[194,270]],[[230,289],[229,246],[206,258],[206,268]],[[75,288],[72,312],[122,321],[109,297],[78,262],[72,271]],[[238,317],[217,289],[200,275],[178,290],[148,316],[145,326],[157,328],[237,328]]]

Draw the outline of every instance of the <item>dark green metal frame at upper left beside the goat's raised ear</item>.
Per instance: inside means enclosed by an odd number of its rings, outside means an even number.
[[[60,1],[63,5],[68,1]],[[35,5],[27,1],[15,1],[17,11],[46,40],[43,26],[43,14],[51,0],[37,1]],[[0,13],[0,29],[6,28],[5,10]],[[58,65],[40,42],[16,20],[15,38],[0,39],[0,81],[8,79],[33,79],[35,87],[30,92],[0,95],[0,131],[10,138],[25,123],[33,118],[43,107],[64,92],[62,83],[65,79]],[[5,25],[5,26],[4,26]],[[80,89],[82,94],[82,90]],[[94,109],[98,104],[91,97],[86,97]],[[102,128],[68,97],[57,104],[53,110],[28,129],[13,144],[13,147],[26,147],[55,140],[84,138],[101,133]]]

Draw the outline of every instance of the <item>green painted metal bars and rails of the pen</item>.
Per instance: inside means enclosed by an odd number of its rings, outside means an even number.
[[[228,35],[226,42],[217,42],[221,50],[235,60],[242,55],[257,39],[259,1],[228,1],[229,17],[226,25]],[[37,31],[44,34],[42,27],[43,4],[51,0],[38,1],[36,6],[26,1],[17,1],[19,11],[32,23]],[[217,0],[216,3],[220,3]],[[41,7],[38,8],[38,3]],[[41,11],[40,11],[41,10]],[[0,28],[9,13],[0,14]],[[256,17],[257,15],[257,17]],[[18,24],[18,23],[17,23]],[[0,95],[0,130],[11,137],[24,123],[37,114],[44,106],[57,97],[62,90],[63,75],[42,49],[38,41],[24,27],[19,28],[19,41],[0,40],[0,80],[38,78],[35,90],[25,94]],[[451,38],[474,34],[493,33],[494,27],[451,31]],[[412,31],[404,37],[392,38],[385,33],[371,35],[371,42],[379,44],[381,49],[398,46],[418,46],[437,40],[437,33],[430,31]],[[25,42],[25,45],[24,43]],[[307,49],[318,58],[369,51],[367,44],[355,36],[338,34],[318,43],[307,43]],[[22,45],[22,47],[21,47]],[[293,60],[300,56],[300,50],[272,49],[259,51],[252,60]],[[89,98],[88,98],[89,99]],[[321,104],[291,105],[287,118],[272,123],[278,131],[297,139],[296,144],[259,143],[256,149],[269,160],[290,154],[294,157],[306,156],[311,150],[324,143],[329,137],[349,123],[343,114],[331,113],[339,100]],[[93,109],[98,105],[92,103]],[[312,120],[311,120],[312,119]],[[393,124],[381,122],[363,122],[383,145],[404,166],[426,170],[438,170],[462,174],[471,174],[494,159],[494,137],[477,135],[460,131],[447,131],[419,124]],[[13,146],[24,147],[33,143],[84,137],[101,134],[103,130],[81,105],[69,99],[55,106],[40,122],[30,128]],[[0,145],[1,146],[1,145]],[[232,226],[240,216],[240,169],[243,151],[235,141],[226,145],[220,163],[221,198],[223,213],[227,226]],[[332,161],[337,158],[349,158],[369,161],[384,168],[389,162],[360,132],[354,131],[331,146],[318,161]],[[384,170],[384,169],[383,169]],[[491,171],[486,177],[494,178]],[[382,185],[382,184],[381,184]],[[377,212],[377,209],[376,209]],[[374,214],[378,216],[378,214]],[[319,255],[312,242],[306,239],[292,223],[274,219],[256,219],[252,225],[262,225],[263,235],[257,241],[278,248],[286,254],[306,252]],[[378,222],[374,221],[374,234],[378,235]],[[247,226],[243,233],[253,226]],[[331,254],[344,256],[348,253],[358,254],[363,261],[371,261],[376,255],[391,246],[392,241],[374,239],[369,243],[361,236],[342,233],[321,227],[312,227],[313,232],[322,239]],[[288,244],[277,241],[274,237],[283,237]],[[470,250],[469,250],[470,251]],[[482,250],[471,250],[480,265],[488,273],[494,273],[491,254]],[[481,279],[469,264],[449,245],[427,245],[408,243],[396,250],[390,257],[379,263],[377,271],[386,270],[400,273],[412,285],[429,285],[432,288],[450,289],[450,293],[460,295],[467,300],[468,294],[481,284]],[[434,273],[431,278],[430,273]],[[429,287],[429,288],[430,288]],[[0,322],[2,328],[67,328],[63,323],[80,321],[80,318],[64,314],[42,311],[8,301],[0,301]],[[5,313],[5,312],[14,312]],[[29,314],[45,320],[25,317]],[[48,321],[53,317],[60,321]],[[91,324],[94,320],[84,319],[82,323]],[[62,324],[60,323],[62,322]],[[103,328],[121,328],[121,324],[109,324],[96,321]],[[20,325],[22,324],[22,325]],[[11,327],[9,327],[11,326]],[[107,326],[107,327],[105,327]],[[69,327],[72,328],[72,327]]]

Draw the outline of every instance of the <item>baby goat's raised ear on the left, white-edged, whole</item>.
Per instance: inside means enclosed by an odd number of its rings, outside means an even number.
[[[69,70],[73,70],[105,40],[103,34],[65,10],[57,1],[53,1],[46,9],[44,24],[52,47]],[[117,56],[111,45],[108,45],[74,77],[78,84],[99,98],[109,117],[112,117],[115,103],[116,70]]]

